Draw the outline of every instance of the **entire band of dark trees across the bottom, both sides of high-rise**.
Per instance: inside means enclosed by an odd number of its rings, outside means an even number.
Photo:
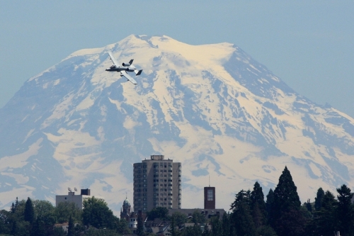
[[[331,191],[319,188],[314,202],[301,203],[297,187],[290,171],[285,167],[278,185],[264,197],[263,189],[256,183],[253,190],[236,193],[229,212],[222,218],[206,219],[200,211],[189,220],[193,226],[181,227],[188,222],[187,216],[176,212],[168,215],[167,208],[154,208],[147,213],[148,220],[161,218],[169,223],[172,236],[354,236],[354,205],[348,186],[343,184]],[[56,223],[69,222],[68,232]],[[137,219],[136,233],[144,232],[142,215]],[[91,225],[91,230],[84,225]],[[95,230],[93,230],[95,229]],[[113,215],[107,203],[101,199],[84,201],[84,210],[74,203],[63,202],[54,207],[49,201],[28,198],[12,203],[11,209],[0,210],[0,235],[15,236],[64,236],[64,235],[130,235],[125,219]]]

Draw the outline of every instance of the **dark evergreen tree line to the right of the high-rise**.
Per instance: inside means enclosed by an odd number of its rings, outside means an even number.
[[[301,203],[290,171],[285,167],[278,185],[270,189],[266,200],[260,184],[253,190],[236,194],[229,213],[222,219],[212,218],[209,225],[194,225],[184,230],[171,230],[182,236],[341,236],[354,235],[353,194],[343,184],[337,198],[319,188],[314,203]]]

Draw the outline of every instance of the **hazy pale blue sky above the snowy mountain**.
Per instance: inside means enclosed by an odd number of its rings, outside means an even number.
[[[234,43],[299,94],[354,117],[353,0],[0,0],[0,108],[72,52],[131,34]]]

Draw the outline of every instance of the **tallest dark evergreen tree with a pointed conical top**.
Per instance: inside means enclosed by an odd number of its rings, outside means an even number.
[[[301,202],[290,171],[285,167],[274,190],[274,203],[270,225],[279,236],[304,231],[304,218],[300,212]]]

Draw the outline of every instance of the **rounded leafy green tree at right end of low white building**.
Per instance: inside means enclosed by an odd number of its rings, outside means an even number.
[[[117,217],[113,215],[104,200],[92,197],[84,201],[82,222],[84,225],[92,225],[96,228],[106,227],[115,229]]]

